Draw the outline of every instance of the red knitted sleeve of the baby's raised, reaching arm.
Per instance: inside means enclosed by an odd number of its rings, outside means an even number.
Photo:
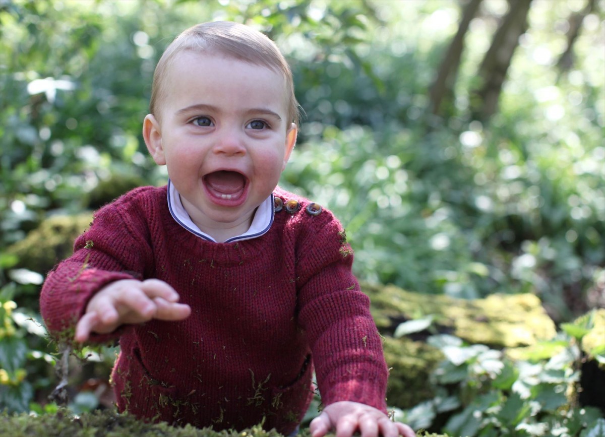
[[[131,193],[96,212],[88,231],[74,243],[74,254],[47,275],[40,295],[42,318],[51,336],[71,340],[73,328],[91,297],[121,279],[142,279],[151,258],[144,219]],[[92,335],[91,341],[117,338],[119,331]]]

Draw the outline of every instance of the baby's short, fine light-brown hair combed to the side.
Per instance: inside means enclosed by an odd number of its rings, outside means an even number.
[[[213,21],[195,25],[183,31],[171,42],[155,67],[149,113],[156,117],[159,116],[157,112],[159,102],[165,97],[164,82],[168,67],[172,59],[185,50],[214,50],[224,56],[234,57],[239,61],[254,65],[263,65],[282,74],[286,80],[286,93],[288,94],[287,115],[289,120],[286,128],[290,127],[290,122],[298,125],[299,106],[294,95],[292,70],[280,49],[263,33],[231,21]]]

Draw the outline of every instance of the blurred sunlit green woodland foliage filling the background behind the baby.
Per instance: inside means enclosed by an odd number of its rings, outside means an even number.
[[[469,90],[505,0],[471,22],[447,119],[427,96],[457,0],[0,0],[0,329],[15,356],[0,376],[2,396],[18,393],[2,405],[42,411],[51,385],[54,349],[28,326],[57,254],[40,244],[29,257],[26,236],[166,182],[140,135],[152,73],[174,36],[211,19],[266,32],[289,59],[306,117],[281,183],[341,218],[359,278],[456,298],[532,292],[557,322],[603,306],[603,0],[572,68],[555,67],[585,4],[532,2],[500,112],[482,125]]]

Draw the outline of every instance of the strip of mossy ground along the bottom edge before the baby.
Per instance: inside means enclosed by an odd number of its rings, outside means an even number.
[[[83,413],[79,416],[70,415],[64,410],[41,416],[0,413],[0,430],[4,437],[282,437],[275,430],[263,430],[260,425],[242,431],[198,429],[191,425],[172,427],[166,422],[143,422],[134,416],[118,414],[112,410]],[[417,435],[448,437],[424,432]],[[299,433],[299,437],[309,436],[308,429]]]

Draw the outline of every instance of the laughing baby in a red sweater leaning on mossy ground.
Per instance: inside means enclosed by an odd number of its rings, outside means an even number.
[[[277,186],[297,126],[292,73],[262,33],[211,22],[166,49],[143,138],[168,185],[97,211],[41,294],[55,337],[119,339],[120,411],[295,435],[315,369],[313,437],[414,436],[387,417],[381,338],[342,226]]]

